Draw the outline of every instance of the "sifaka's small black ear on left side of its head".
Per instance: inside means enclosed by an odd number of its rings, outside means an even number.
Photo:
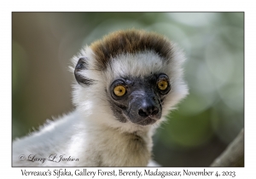
[[[74,76],[79,84],[91,85],[93,84],[93,80],[90,78],[86,78],[82,75],[82,71],[86,70],[88,67],[87,58],[81,57],[75,67]]]

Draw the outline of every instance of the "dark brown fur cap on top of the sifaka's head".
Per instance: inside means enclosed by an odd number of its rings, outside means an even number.
[[[167,61],[172,57],[170,41],[154,32],[127,30],[113,32],[90,45],[96,58],[99,70],[107,68],[110,58],[120,54],[136,54],[145,50],[154,51]]]

